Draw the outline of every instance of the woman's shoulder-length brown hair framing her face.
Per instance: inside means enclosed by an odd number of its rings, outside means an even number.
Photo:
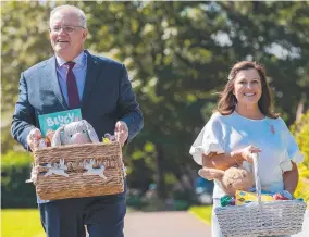
[[[237,105],[237,99],[235,95],[233,95],[234,89],[234,82],[237,73],[242,70],[257,70],[260,75],[261,85],[262,85],[262,95],[258,102],[259,109],[261,112],[271,118],[279,117],[279,114],[274,113],[273,111],[273,99],[267,83],[267,73],[262,65],[258,64],[257,62],[251,61],[242,61],[236,63],[230,74],[228,74],[228,82],[224,87],[224,90],[220,93],[220,100],[218,102],[217,110],[222,115],[228,115],[234,112]]]

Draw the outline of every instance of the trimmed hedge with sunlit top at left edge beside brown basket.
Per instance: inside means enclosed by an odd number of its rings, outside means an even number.
[[[25,183],[30,175],[32,162],[32,155],[26,152],[10,151],[2,155],[2,208],[35,208],[37,205],[34,185]]]

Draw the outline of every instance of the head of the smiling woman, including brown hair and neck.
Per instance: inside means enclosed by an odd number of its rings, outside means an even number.
[[[221,93],[218,111],[228,115],[235,110],[251,118],[269,116],[276,118],[267,83],[265,70],[256,62],[236,63],[230,72],[228,82]]]

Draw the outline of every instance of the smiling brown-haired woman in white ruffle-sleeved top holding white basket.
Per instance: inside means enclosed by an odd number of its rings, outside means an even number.
[[[226,170],[234,165],[251,165],[251,153],[259,152],[262,189],[294,194],[298,183],[297,164],[304,160],[284,121],[272,110],[272,97],[264,68],[256,62],[243,61],[228,75],[218,111],[202,128],[190,154],[207,167]],[[214,183],[213,208],[224,196]],[[212,236],[222,236],[212,213]]]

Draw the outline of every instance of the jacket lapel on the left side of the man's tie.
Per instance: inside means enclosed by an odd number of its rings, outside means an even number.
[[[57,68],[55,68],[55,57],[50,58],[47,61],[46,65],[46,80],[49,83],[50,87],[52,88],[55,97],[58,98],[59,102],[63,105],[63,108],[69,109],[65,99],[63,98],[58,76],[57,76]]]

